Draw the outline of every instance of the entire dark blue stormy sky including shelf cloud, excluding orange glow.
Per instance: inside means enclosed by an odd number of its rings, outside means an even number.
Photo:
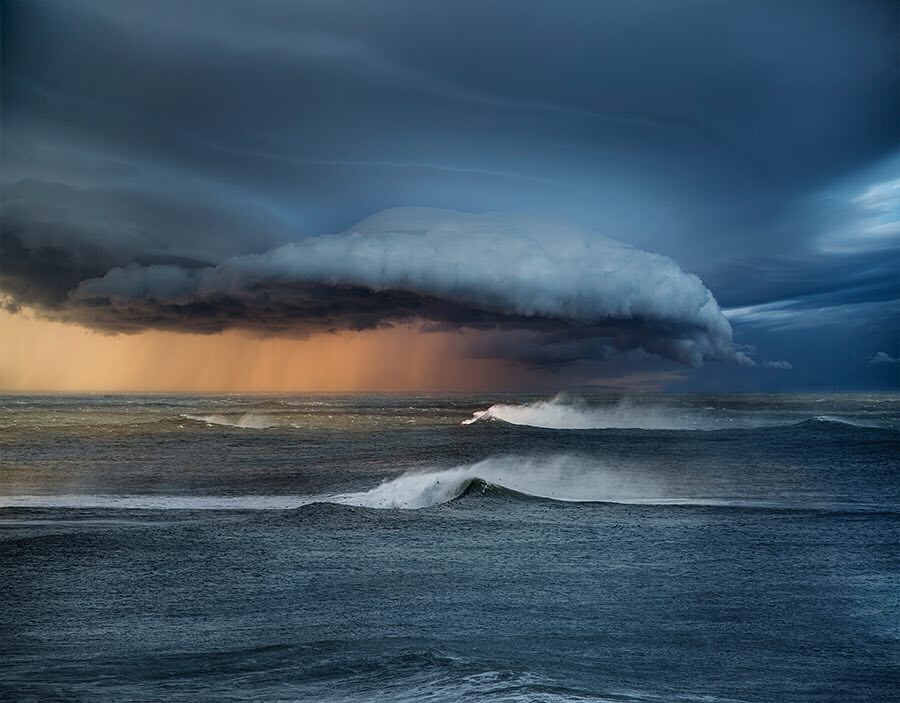
[[[2,8],[9,307],[900,389],[900,3]]]

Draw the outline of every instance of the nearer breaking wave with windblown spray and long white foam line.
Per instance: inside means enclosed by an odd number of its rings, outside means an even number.
[[[704,486],[673,477],[654,478],[654,473],[647,467],[608,463],[579,455],[506,455],[445,469],[409,471],[384,480],[374,487],[348,493],[242,496],[13,495],[0,496],[0,508],[283,511],[312,504],[332,504],[366,509],[416,510],[489,498],[492,499],[491,502],[503,505],[546,500],[558,503],[685,505],[769,510],[897,510],[896,505],[885,506],[849,497],[813,497],[798,492],[769,499],[752,486],[717,486],[715,482]]]

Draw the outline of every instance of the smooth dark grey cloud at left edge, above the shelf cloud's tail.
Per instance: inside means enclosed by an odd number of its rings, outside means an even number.
[[[224,198],[217,205],[149,187],[7,184],[0,286],[18,303],[54,307],[82,280],[115,266],[209,265],[246,251],[247,232],[272,226],[264,213],[247,213]],[[265,241],[260,236],[257,245]]]

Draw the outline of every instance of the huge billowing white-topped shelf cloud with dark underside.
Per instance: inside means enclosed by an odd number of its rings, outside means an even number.
[[[693,366],[747,361],[696,276],[558,221],[394,209],[341,234],[217,265],[157,263],[158,253],[113,253],[96,242],[85,253],[77,239],[51,246],[28,232],[4,233],[10,304],[112,332],[302,336],[420,324],[489,332],[474,354],[533,365],[613,351]]]

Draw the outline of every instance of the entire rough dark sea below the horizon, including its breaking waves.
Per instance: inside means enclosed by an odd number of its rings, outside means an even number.
[[[0,398],[0,698],[898,699],[900,399],[534,400]]]

